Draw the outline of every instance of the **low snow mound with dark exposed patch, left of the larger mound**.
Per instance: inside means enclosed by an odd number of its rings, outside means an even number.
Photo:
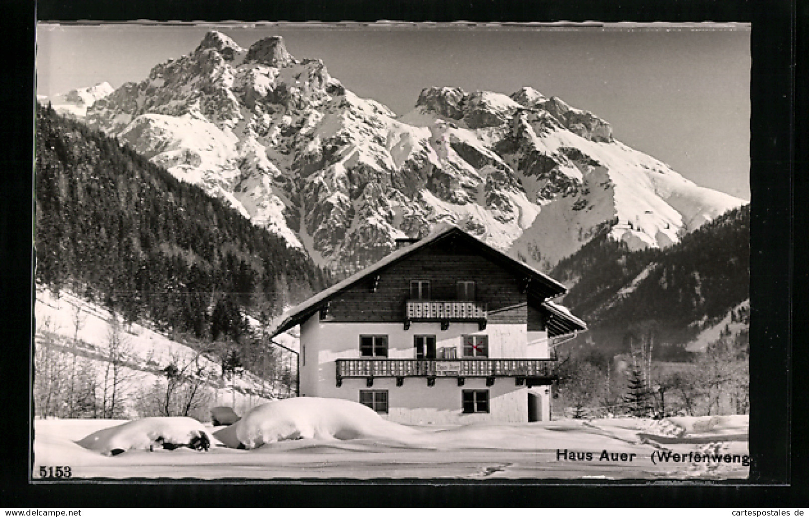
[[[150,417],[109,427],[78,441],[83,448],[116,456],[131,450],[188,447],[208,450],[209,431],[188,417]]]

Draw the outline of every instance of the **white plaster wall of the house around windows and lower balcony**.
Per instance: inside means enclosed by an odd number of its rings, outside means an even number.
[[[527,393],[525,386],[515,385],[512,378],[497,378],[487,387],[485,379],[466,378],[463,387],[455,377],[435,380],[429,387],[425,377],[407,377],[404,385],[396,387],[394,378],[376,378],[371,388],[365,379],[344,379],[337,387],[336,359],[359,359],[361,334],[388,335],[390,359],[415,359],[413,336],[435,335],[436,347],[455,347],[457,356],[463,354],[462,337],[468,334],[489,336],[489,357],[492,359],[543,359],[548,357],[546,332],[527,333],[525,324],[489,325],[478,330],[477,323],[451,323],[441,330],[440,323],[413,323],[404,330],[402,323],[334,323],[320,322],[316,313],[301,325],[301,348],[305,349],[300,368],[301,395],[336,397],[359,401],[361,389],[388,390],[388,418],[403,423],[466,423],[480,421],[527,422]],[[529,337],[530,336],[530,337]],[[529,343],[530,340],[530,343]],[[489,389],[489,414],[463,414],[461,391]],[[540,393],[533,388],[534,393]],[[549,408],[549,397],[543,400],[543,412]],[[543,419],[547,419],[543,415]]]

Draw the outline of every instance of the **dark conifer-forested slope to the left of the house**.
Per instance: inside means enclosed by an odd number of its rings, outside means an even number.
[[[281,238],[116,139],[36,111],[36,280],[197,338],[329,284]]]

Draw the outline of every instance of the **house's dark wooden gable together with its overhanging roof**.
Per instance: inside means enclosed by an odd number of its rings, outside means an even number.
[[[545,307],[566,292],[562,284],[456,226],[445,225],[295,306],[272,335],[318,312],[322,320],[332,322],[401,322],[413,280],[430,282],[432,301],[456,301],[457,282],[475,282],[475,299],[488,305],[489,322],[530,323],[527,307],[533,306],[540,315],[557,313],[570,329],[587,328],[570,313]]]

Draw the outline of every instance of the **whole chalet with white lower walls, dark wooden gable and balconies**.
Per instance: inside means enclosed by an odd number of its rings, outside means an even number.
[[[300,395],[358,401],[403,423],[550,418],[549,338],[587,326],[565,287],[455,226],[303,302]]]

